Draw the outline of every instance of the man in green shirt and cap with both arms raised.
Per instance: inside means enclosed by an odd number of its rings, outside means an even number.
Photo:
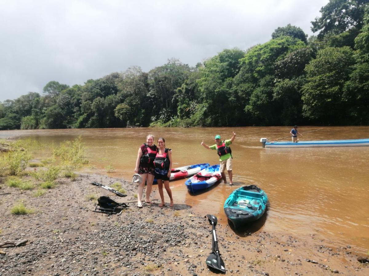
[[[227,179],[225,178],[225,169],[227,168],[228,171],[228,177],[230,178],[230,185],[233,185],[232,181],[232,154],[231,154],[231,148],[229,147],[230,144],[234,141],[234,138],[236,138],[235,132],[233,132],[233,135],[231,139],[222,141],[220,139],[220,135],[215,135],[215,145],[208,146],[204,143],[204,141],[201,142],[201,145],[204,146],[204,148],[207,149],[216,149],[218,155],[220,156],[220,173],[222,175],[222,178],[224,180],[224,183],[227,183]]]

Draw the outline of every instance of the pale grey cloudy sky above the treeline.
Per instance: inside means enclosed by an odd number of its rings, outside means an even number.
[[[311,23],[328,0],[0,0],[0,101],[169,58],[190,66]]]

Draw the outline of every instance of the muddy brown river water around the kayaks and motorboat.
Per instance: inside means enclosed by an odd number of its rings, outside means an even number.
[[[72,130],[0,131],[1,138],[30,137],[46,144],[58,144],[82,135],[88,148],[90,164],[97,173],[104,167],[116,168],[114,177],[130,180],[134,173],[139,146],[146,135],[166,139],[172,148],[173,167],[195,163],[218,163],[215,151],[200,146],[214,144],[214,135],[230,139],[232,144],[235,185],[215,185],[199,195],[187,192],[185,180],[170,183],[175,203],[185,203],[202,215],[218,216],[224,226],[227,219],[223,204],[238,187],[255,184],[269,197],[266,216],[256,223],[254,230],[286,232],[292,236],[310,237],[338,242],[342,246],[355,245],[362,252],[369,250],[369,146],[338,148],[262,148],[261,137],[286,137],[292,127],[238,128],[115,128]],[[321,127],[299,127],[299,132]],[[369,138],[369,127],[324,127],[310,132],[300,140]],[[289,141],[290,138],[285,139]],[[283,141],[283,140],[282,140]],[[157,143],[156,143],[157,144]],[[85,172],[92,172],[85,169]],[[156,189],[156,185],[154,185]],[[166,201],[169,198],[166,195]],[[159,198],[159,196],[157,196]],[[251,229],[252,230],[252,229]]]

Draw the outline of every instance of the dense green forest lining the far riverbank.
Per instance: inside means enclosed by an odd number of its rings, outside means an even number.
[[[316,36],[288,24],[195,67],[169,59],[84,85],[50,81],[0,103],[0,130],[368,125],[368,0],[330,0],[311,24]]]

